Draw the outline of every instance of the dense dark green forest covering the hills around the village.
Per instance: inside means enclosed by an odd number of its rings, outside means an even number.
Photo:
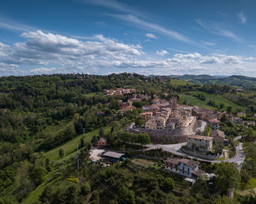
[[[197,85],[168,76],[124,73],[108,76],[54,74],[1,77],[0,203],[256,202],[254,196],[237,195],[235,200],[230,200],[225,190],[219,192],[215,187],[209,187],[211,192],[207,192],[203,180],[191,188],[181,178],[167,175],[159,168],[161,163],[151,170],[138,169],[129,162],[129,158],[136,156],[133,152],[127,153],[127,161],[121,165],[111,168],[92,165],[89,149],[99,136],[108,138],[115,148],[129,148],[131,142],[141,143],[141,146],[144,144],[141,139],[143,135],[123,132],[131,122],[138,122],[141,104],[135,103],[138,107],[135,111],[120,114],[118,100],[127,101],[132,94],[104,95],[105,89],[118,87],[135,88],[136,93],[151,95],[152,98],[157,95],[169,100],[176,95],[178,103],[184,104],[190,102],[180,96],[190,95],[206,101],[214,110],[233,114],[241,111],[231,106],[209,103],[208,95],[221,95],[246,109],[247,119],[252,119],[256,113],[253,92],[236,93],[234,87],[227,85]],[[195,92],[200,94],[192,96]],[[98,111],[103,111],[104,115],[97,116]],[[239,127],[223,118],[221,128],[230,141],[235,136],[244,136],[246,162],[241,173],[230,166],[211,167],[205,164],[206,168],[219,169],[219,172],[227,168],[236,176],[238,189],[249,189],[249,185],[255,187],[255,127]],[[69,152],[60,148],[71,144],[70,141],[79,144],[79,170],[77,160],[74,160],[77,144]]]

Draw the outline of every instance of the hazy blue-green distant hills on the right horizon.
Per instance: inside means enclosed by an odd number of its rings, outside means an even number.
[[[256,90],[256,78],[249,76],[211,76],[211,75],[193,75],[185,74],[182,76],[170,75],[170,77],[175,79],[181,79],[187,82],[192,82],[199,85],[228,85],[232,87],[242,87],[247,90]]]

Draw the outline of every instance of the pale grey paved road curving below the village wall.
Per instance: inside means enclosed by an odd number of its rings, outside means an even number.
[[[237,141],[238,139],[240,139],[241,136],[234,138],[233,141]],[[213,163],[219,163],[219,162],[232,162],[232,163],[236,163],[238,165],[238,169],[241,169],[241,165],[244,162],[245,156],[244,156],[244,152],[243,152],[243,146],[242,143],[240,143],[238,146],[236,146],[236,155],[232,158],[228,158],[228,160],[222,160],[222,161],[218,161],[218,160],[205,160],[205,159],[201,159],[199,157],[193,157],[189,154],[185,154],[184,152],[181,152],[181,146],[186,145],[187,142],[183,142],[183,143],[179,143],[179,144],[148,144],[148,149],[159,149],[162,148],[164,151],[166,152],[171,152],[173,154],[179,155],[179,156],[186,156],[192,159],[197,159],[200,161],[206,161],[206,162],[213,162]]]

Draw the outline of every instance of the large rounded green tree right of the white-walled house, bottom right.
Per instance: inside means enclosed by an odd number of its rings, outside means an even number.
[[[228,191],[238,183],[238,170],[230,162],[221,162],[217,164],[215,171],[217,175],[216,187],[222,191],[222,194],[227,195]]]

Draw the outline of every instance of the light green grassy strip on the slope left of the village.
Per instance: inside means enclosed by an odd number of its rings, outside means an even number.
[[[104,127],[104,132],[105,133],[110,133],[111,127],[106,126]],[[91,138],[93,136],[97,136],[99,134],[99,129],[93,130],[89,133],[85,134],[85,140],[84,142],[89,142],[91,141]],[[61,146],[56,147],[55,149],[51,149],[48,152],[45,152],[44,155],[45,157],[48,157],[50,160],[58,160],[59,158],[59,149],[64,149],[66,157],[70,157],[69,154],[72,152],[75,152],[77,145],[80,143],[80,138],[82,138],[83,134],[80,136],[76,136],[75,138],[72,138],[72,140],[67,141],[65,144],[61,144]]]

